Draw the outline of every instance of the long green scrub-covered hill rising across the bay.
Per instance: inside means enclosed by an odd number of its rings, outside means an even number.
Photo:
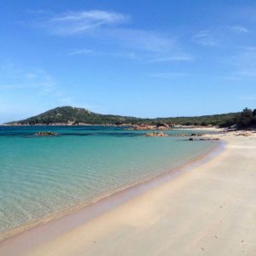
[[[174,117],[141,119],[130,116],[120,116],[113,114],[93,113],[84,108],[59,107],[44,113],[40,113],[28,119],[15,121],[9,125],[53,125],[53,124],[90,124],[90,125],[121,125],[121,124],[152,124],[166,123],[169,125],[229,125],[232,119],[240,113],[224,113],[214,115],[204,115],[195,117]],[[230,123],[231,124],[231,123]]]

